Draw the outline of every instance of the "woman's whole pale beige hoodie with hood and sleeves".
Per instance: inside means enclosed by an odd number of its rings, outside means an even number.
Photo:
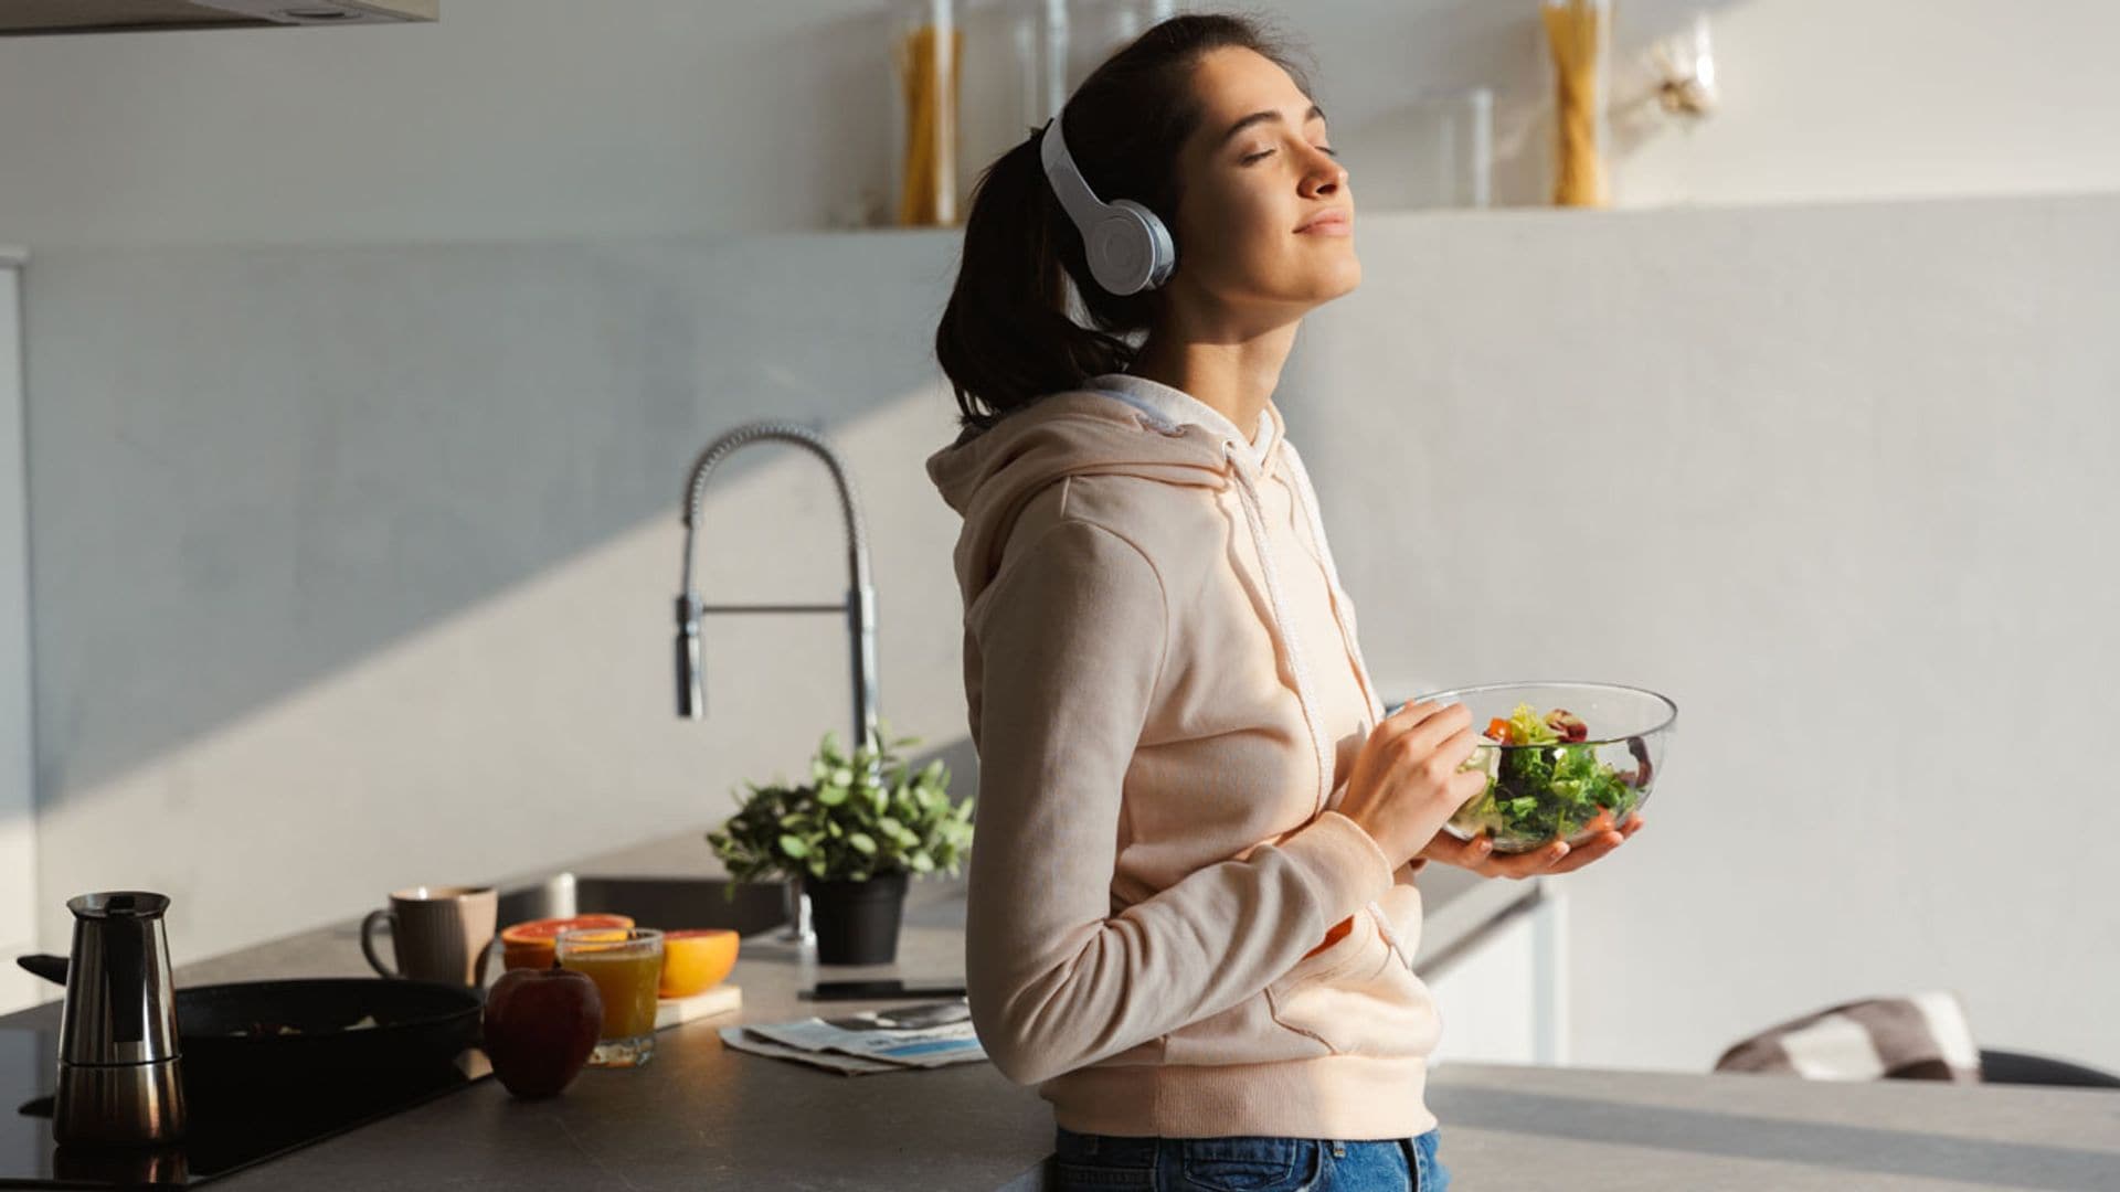
[[[1081,1133],[1435,1126],[1420,861],[1333,810],[1384,708],[1280,411],[1247,441],[1111,373],[926,467],[965,515],[965,974],[1003,1075]]]

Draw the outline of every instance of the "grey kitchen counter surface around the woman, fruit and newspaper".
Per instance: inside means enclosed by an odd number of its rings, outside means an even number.
[[[719,876],[697,834],[587,859],[577,874]],[[505,887],[513,882],[502,882]],[[1541,882],[1423,872],[1416,967],[1520,910]],[[214,1186],[307,1188],[808,1188],[1035,1190],[1052,1114],[992,1065],[837,1075],[723,1048],[731,1022],[814,1014],[827,978],[962,976],[962,880],[914,882],[897,965],[820,969],[772,933],[746,937],[738,1014],[657,1035],[634,1071],[587,1069],[553,1101],[479,1082],[430,1105],[229,1175]],[[180,984],[363,976],[358,923],[178,965]],[[825,1003],[827,1012],[888,1003]],[[55,1027],[57,1003],[0,1018]],[[1431,1107],[1461,1188],[2116,1188],[2120,1094],[1925,1082],[1442,1065]]]

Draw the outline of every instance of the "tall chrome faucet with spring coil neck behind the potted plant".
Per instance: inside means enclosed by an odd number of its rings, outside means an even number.
[[[706,498],[706,477],[714,464],[729,458],[738,448],[778,439],[808,448],[831,469],[831,479],[840,488],[840,511],[846,520],[846,571],[848,588],[842,604],[702,604],[691,583],[693,541],[700,526],[700,503]],[[869,583],[869,532],[861,522],[861,507],[854,501],[854,481],[846,460],[825,441],[823,435],[793,422],[746,422],[714,439],[691,464],[691,479],[685,484],[685,577],[676,596],[676,715],[685,719],[706,717],[706,672],[700,653],[700,617],[708,613],[844,613],[852,651],[852,704],[854,740],[861,749],[876,734],[876,588]],[[795,895],[789,884],[791,916],[782,940],[812,940],[810,897]]]

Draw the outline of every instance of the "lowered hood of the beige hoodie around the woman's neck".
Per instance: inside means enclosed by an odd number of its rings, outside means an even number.
[[[1068,475],[1138,475],[1164,484],[1227,488],[1238,469],[1272,473],[1283,422],[1266,405],[1255,443],[1213,407],[1141,378],[1092,378],[1090,386],[1030,403],[986,431],[967,428],[926,460],[941,498],[965,518],[956,575],[965,600],[977,598],[1001,562],[1015,515],[1045,486]],[[1143,392],[1153,386],[1153,392]],[[1206,411],[1179,420],[1183,403]]]

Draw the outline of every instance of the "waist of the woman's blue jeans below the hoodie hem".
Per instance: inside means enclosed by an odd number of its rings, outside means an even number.
[[[1412,1139],[1128,1139],[1058,1126],[1054,1190],[1151,1192],[1446,1192],[1437,1130]]]

